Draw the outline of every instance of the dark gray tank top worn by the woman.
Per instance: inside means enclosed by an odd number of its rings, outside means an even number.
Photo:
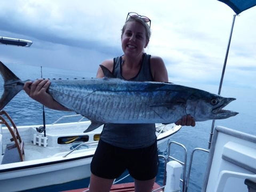
[[[144,53],[139,73],[129,81],[153,81],[150,70],[150,57]],[[113,75],[124,79],[122,76],[122,57],[114,58]],[[144,148],[156,141],[155,124],[105,124],[100,139],[110,145],[126,148]]]

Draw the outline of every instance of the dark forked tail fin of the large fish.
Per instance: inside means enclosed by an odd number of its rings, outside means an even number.
[[[2,110],[23,89],[23,82],[0,61],[0,74],[4,79],[4,93],[0,99]]]

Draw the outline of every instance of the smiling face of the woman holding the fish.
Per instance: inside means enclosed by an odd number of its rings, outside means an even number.
[[[122,35],[122,49],[125,55],[139,55],[148,45],[146,29],[137,21],[127,22],[124,34]]]

